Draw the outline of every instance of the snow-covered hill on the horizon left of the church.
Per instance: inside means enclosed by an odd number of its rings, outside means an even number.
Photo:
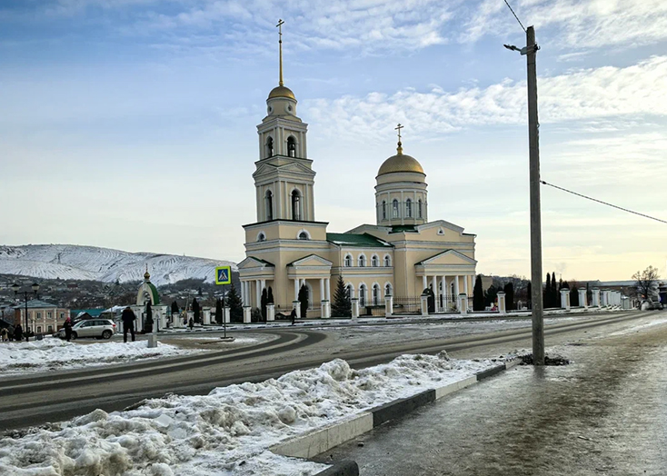
[[[146,264],[151,282],[158,286],[190,278],[213,282],[216,266],[231,265],[236,270],[232,262],[174,254],[128,253],[75,244],[0,246],[0,274],[124,283],[144,279]]]

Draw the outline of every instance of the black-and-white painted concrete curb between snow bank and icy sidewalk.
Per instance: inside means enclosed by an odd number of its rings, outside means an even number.
[[[483,372],[477,372],[463,380],[449,383],[443,387],[429,389],[407,398],[384,403],[371,410],[357,413],[348,420],[333,423],[305,435],[287,438],[284,441],[274,444],[269,450],[276,454],[293,458],[314,458],[318,454],[329,451],[345,441],[353,440],[357,436],[371,431],[373,428],[387,421],[395,420],[409,412],[413,412],[413,410],[427,403],[435,402],[446,395],[470,387],[505,370],[512,369],[520,362],[520,359],[514,359]],[[333,466],[326,470],[316,473],[314,476],[358,476],[358,474],[359,469],[354,461],[340,461],[334,463]]]

